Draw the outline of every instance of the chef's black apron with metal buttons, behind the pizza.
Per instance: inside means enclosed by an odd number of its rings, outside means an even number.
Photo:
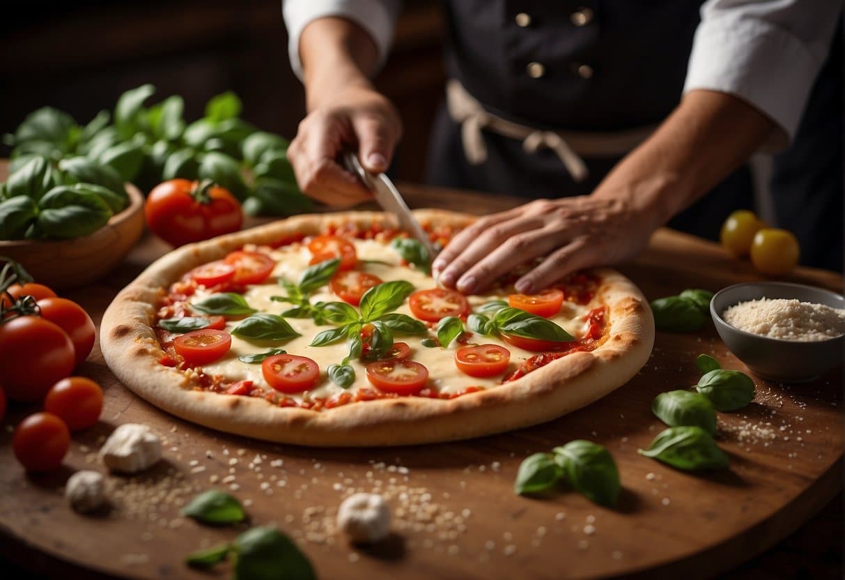
[[[447,72],[486,110],[537,129],[602,132],[660,123],[677,107],[701,8],[698,0],[444,4]],[[802,264],[841,270],[842,51],[834,47],[793,146],[775,159],[771,186],[777,225],[799,237]],[[810,117],[815,130],[806,127]],[[527,153],[518,140],[482,135],[487,160],[471,165],[459,126],[440,107],[429,183],[558,198],[591,193],[619,161],[585,158],[589,177],[576,183],[551,150]],[[668,225],[716,239],[730,211],[753,207],[750,171],[742,167]],[[827,237],[815,231],[820,222]]]

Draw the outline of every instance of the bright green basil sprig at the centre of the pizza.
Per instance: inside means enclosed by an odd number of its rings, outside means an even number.
[[[323,347],[346,338],[349,354],[341,364],[331,365],[329,378],[337,386],[346,388],[355,381],[355,369],[349,364],[352,358],[361,357],[363,341],[361,331],[364,325],[372,326],[369,337],[370,355],[373,358],[390,350],[393,346],[393,334],[424,334],[427,327],[419,320],[408,315],[396,314],[393,310],[399,308],[405,298],[413,292],[411,282],[394,280],[383,282],[371,287],[361,297],[360,314],[345,302],[330,302],[321,304],[321,314],[332,324],[340,325],[327,331],[317,333],[309,346]]]

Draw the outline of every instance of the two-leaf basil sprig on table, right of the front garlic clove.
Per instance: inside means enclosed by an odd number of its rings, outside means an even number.
[[[551,490],[566,481],[601,506],[615,507],[622,490],[619,469],[604,447],[587,440],[570,441],[552,453],[526,457],[516,474],[517,494]]]

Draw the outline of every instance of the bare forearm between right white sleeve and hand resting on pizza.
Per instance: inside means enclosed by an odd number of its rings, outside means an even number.
[[[648,226],[662,226],[748,161],[775,126],[735,96],[690,91],[593,195],[621,197]]]

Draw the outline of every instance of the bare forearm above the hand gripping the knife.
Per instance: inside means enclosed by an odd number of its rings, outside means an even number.
[[[372,37],[351,20],[313,20],[299,38],[308,111],[350,85],[370,86],[379,52]]]

